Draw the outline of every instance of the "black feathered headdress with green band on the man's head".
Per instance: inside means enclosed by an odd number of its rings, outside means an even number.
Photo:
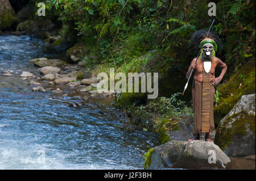
[[[220,37],[218,37],[214,32],[208,33],[205,30],[196,31],[192,35],[191,42],[193,47],[195,47],[197,51],[199,51],[199,49],[203,47],[205,43],[210,43],[213,45],[213,48],[216,53],[221,52],[222,43]]]

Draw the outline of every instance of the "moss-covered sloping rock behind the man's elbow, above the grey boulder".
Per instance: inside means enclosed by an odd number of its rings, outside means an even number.
[[[232,110],[242,95],[255,93],[255,61],[247,62],[227,83],[217,88],[220,100],[214,106],[214,121],[218,123]]]

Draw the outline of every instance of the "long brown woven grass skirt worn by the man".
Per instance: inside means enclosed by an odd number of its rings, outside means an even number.
[[[212,82],[203,83],[195,81],[193,87],[193,108],[194,108],[194,131],[193,134],[201,132],[212,132],[214,130],[213,103],[215,89]],[[204,87],[204,90],[203,90]],[[204,93],[204,98],[203,98]],[[204,100],[203,100],[204,99]]]

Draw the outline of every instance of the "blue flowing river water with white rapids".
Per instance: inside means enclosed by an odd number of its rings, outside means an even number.
[[[42,40],[0,36],[0,169],[143,169],[158,145],[146,132],[123,132],[113,98],[69,107],[69,96],[32,92],[19,75],[39,74],[28,60],[44,54]]]

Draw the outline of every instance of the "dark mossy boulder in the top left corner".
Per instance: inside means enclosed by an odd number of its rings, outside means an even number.
[[[15,11],[9,0],[0,0],[0,30],[6,30],[15,22]]]

